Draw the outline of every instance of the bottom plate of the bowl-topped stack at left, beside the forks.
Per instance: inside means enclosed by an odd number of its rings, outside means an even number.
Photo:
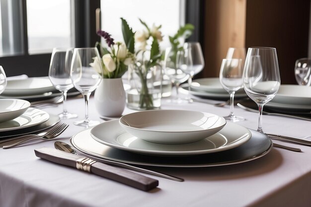
[[[61,119],[58,115],[49,114],[49,116],[50,117],[47,121],[45,121],[41,124],[32,126],[32,127],[23,128],[23,129],[14,130],[14,131],[0,132],[0,143],[5,142],[5,141],[9,141],[9,140],[13,140],[17,136],[33,134],[36,132],[40,132],[40,131],[49,129],[61,121]]]

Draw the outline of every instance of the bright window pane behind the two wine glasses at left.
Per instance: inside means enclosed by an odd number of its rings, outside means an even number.
[[[29,54],[74,47],[71,0],[27,0]]]

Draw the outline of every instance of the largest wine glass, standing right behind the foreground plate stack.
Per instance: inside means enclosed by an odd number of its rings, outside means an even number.
[[[274,98],[281,80],[275,48],[248,48],[243,83],[246,94],[258,105],[258,132],[262,131],[262,109]]]

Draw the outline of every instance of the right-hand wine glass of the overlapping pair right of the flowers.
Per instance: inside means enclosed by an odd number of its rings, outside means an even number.
[[[193,76],[204,68],[204,57],[200,43],[185,43],[183,49],[178,53],[177,63],[183,72],[189,74],[188,90],[190,91]],[[187,100],[192,102],[190,97],[187,97]]]

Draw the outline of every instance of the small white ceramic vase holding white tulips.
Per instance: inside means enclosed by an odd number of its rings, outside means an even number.
[[[119,117],[125,104],[125,91],[121,78],[103,78],[94,93],[95,107],[100,116]]]

